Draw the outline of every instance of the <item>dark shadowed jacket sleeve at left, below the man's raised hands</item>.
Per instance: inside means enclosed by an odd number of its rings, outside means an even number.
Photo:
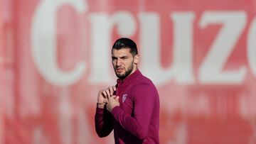
[[[95,130],[100,138],[109,135],[113,130],[113,116],[106,108],[96,108]]]

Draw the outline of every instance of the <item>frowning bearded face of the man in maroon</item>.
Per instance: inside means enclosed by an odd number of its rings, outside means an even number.
[[[124,79],[135,71],[134,57],[129,48],[112,49],[112,65],[119,79]]]

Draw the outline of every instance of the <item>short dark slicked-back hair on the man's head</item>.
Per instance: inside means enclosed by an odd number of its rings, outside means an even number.
[[[137,45],[136,43],[129,38],[119,38],[114,42],[112,50],[120,50],[122,48],[129,48],[132,55],[138,55]]]

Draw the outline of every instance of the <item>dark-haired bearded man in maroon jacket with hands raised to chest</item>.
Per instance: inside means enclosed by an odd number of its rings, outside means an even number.
[[[115,143],[159,143],[159,94],[139,72],[137,45],[129,38],[112,47],[117,84],[97,96],[95,128],[101,138],[114,129]]]

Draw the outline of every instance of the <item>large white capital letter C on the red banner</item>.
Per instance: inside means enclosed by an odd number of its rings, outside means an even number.
[[[78,81],[85,72],[85,63],[78,62],[73,70],[65,72],[58,68],[56,54],[56,13],[63,4],[73,6],[78,13],[85,12],[83,0],[44,0],[38,4],[32,18],[31,47],[38,71],[52,84],[67,86]]]

